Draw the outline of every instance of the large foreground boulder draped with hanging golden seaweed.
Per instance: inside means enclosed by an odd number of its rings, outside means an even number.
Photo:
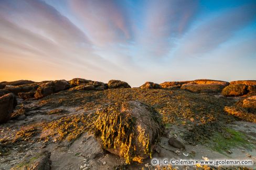
[[[112,104],[97,112],[95,137],[109,152],[125,162],[150,157],[164,126],[161,115],[139,101]]]

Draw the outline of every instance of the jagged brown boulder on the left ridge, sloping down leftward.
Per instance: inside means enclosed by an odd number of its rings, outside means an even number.
[[[69,83],[66,80],[56,80],[41,84],[35,93],[35,98],[42,98],[52,93],[57,93],[61,90],[68,89]]]

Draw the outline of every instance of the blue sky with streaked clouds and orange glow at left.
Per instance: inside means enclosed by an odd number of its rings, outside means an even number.
[[[256,80],[256,1],[0,0],[0,82]]]

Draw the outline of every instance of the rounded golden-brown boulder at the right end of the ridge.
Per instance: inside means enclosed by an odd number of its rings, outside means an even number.
[[[223,88],[223,96],[242,96],[247,93],[247,86],[244,84],[230,84]]]

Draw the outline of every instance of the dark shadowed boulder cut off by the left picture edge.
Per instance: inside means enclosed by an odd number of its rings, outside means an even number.
[[[0,97],[0,123],[10,120],[14,109],[15,96],[12,93]]]

